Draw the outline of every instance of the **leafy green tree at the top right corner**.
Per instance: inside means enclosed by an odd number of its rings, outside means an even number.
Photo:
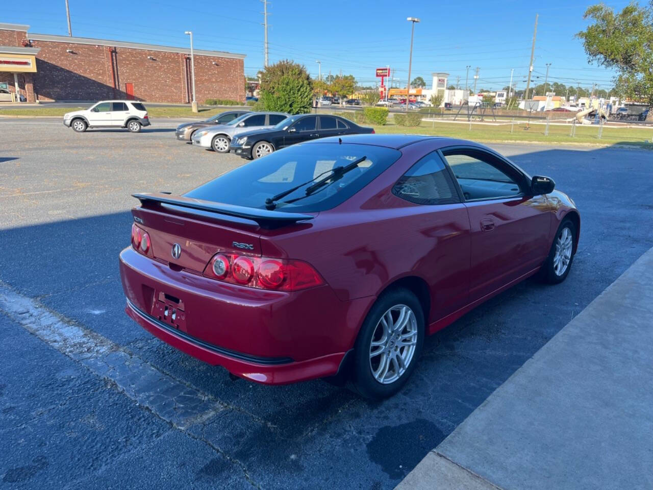
[[[616,14],[601,3],[585,10],[584,18],[592,24],[576,37],[588,61],[616,69],[616,90],[653,107],[653,3],[633,2]],[[653,110],[646,119],[653,120]]]

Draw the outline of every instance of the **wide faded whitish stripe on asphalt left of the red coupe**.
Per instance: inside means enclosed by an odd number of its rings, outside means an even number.
[[[61,318],[2,282],[0,312],[178,429],[186,429],[226,408],[214,397],[161,372],[104,336]]]

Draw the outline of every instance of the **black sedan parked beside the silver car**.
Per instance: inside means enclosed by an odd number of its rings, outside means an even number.
[[[298,114],[286,118],[270,129],[257,129],[234,136],[229,150],[243,158],[259,158],[279,148],[303,141],[366,133],[374,133],[374,129],[359,126],[338,116]]]

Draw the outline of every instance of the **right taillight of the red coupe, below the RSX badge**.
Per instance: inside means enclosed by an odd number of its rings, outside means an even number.
[[[317,270],[304,261],[234,253],[214,255],[204,269],[204,276],[240,286],[276,291],[298,291],[325,284]]]

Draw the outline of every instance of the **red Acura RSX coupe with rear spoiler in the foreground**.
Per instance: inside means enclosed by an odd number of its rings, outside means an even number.
[[[247,380],[370,398],[406,383],[424,336],[529,276],[564,281],[581,225],[550,178],[418,135],[313,140],[134,196],[129,317]]]

